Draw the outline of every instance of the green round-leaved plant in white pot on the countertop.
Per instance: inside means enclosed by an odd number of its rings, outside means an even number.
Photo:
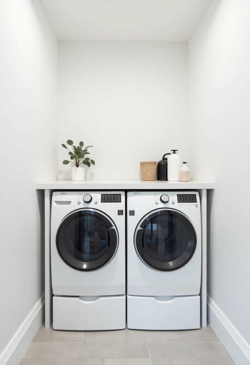
[[[85,155],[90,155],[90,153],[88,152],[88,148],[93,146],[84,147],[83,149],[83,142],[79,142],[79,146],[77,147],[74,146],[73,143],[74,142],[71,141],[71,139],[68,139],[67,144],[71,146],[72,152],[68,149],[66,145],[62,143],[62,146],[69,150],[70,155],[70,161],[64,160],[63,164],[68,165],[69,162],[72,162],[72,164],[75,166],[71,168],[71,180],[83,181],[85,177],[85,169],[83,166],[80,165],[87,165],[88,167],[90,167],[90,164],[95,165],[94,160],[90,160],[90,158],[85,157]]]

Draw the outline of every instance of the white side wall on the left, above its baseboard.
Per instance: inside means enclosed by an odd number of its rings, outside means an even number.
[[[37,0],[0,1],[0,357],[44,293],[42,193],[56,178],[58,42]]]

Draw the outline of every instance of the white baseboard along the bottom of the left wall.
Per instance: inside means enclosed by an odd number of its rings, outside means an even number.
[[[45,295],[43,294],[1,354],[0,365],[20,363],[43,322],[45,316],[44,301]]]

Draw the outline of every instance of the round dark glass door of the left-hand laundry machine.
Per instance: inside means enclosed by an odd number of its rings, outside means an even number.
[[[73,269],[94,271],[107,265],[118,247],[114,222],[94,209],[81,209],[61,222],[56,247],[63,261]]]

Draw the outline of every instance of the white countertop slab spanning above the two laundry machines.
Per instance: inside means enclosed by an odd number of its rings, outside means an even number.
[[[214,183],[202,181],[143,181],[143,180],[55,180],[37,183],[36,189],[61,190],[175,190],[175,189],[214,189]]]

